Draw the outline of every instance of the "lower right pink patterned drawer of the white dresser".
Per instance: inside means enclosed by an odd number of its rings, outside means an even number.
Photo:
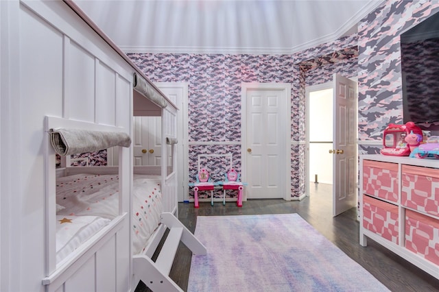
[[[439,265],[439,219],[406,210],[405,248]]]

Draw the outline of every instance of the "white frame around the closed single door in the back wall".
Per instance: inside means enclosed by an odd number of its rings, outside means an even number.
[[[283,199],[291,201],[291,84],[290,83],[241,83],[241,177],[242,181],[247,179],[247,91],[251,89],[279,90],[283,92],[282,108],[285,123],[281,123],[281,160],[284,161],[281,173],[281,192]],[[283,174],[283,175],[282,175]],[[246,188],[244,188],[244,191]],[[246,195],[244,196],[247,197]]]

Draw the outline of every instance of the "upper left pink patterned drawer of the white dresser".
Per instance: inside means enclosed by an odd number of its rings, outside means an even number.
[[[398,202],[398,164],[363,160],[363,193]]]

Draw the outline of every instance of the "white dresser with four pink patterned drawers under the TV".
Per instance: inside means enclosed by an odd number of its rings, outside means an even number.
[[[359,161],[360,245],[370,238],[439,279],[439,159]]]

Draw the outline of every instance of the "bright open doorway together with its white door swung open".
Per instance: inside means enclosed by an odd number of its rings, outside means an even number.
[[[324,95],[325,91],[327,95]],[[340,74],[333,74],[333,82],[305,88],[305,94],[305,182],[310,182],[312,175],[309,172],[316,172],[315,167],[328,167],[322,174],[322,180],[327,180],[332,175],[333,216],[337,216],[355,207],[357,202],[357,82]],[[329,134],[331,132],[332,135]],[[313,153],[315,149],[320,149],[320,153]],[[322,183],[316,173],[314,175],[314,184]],[[309,195],[309,183],[306,187],[306,194]]]

